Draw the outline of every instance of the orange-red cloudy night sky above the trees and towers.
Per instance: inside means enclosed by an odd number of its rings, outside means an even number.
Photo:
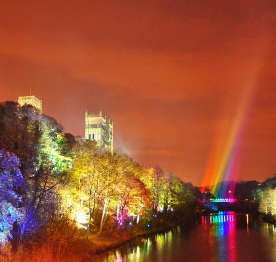
[[[85,110],[102,108],[115,148],[198,186],[234,134],[237,179],[263,181],[276,173],[276,2],[0,1],[0,101],[30,88],[66,132],[83,136]]]

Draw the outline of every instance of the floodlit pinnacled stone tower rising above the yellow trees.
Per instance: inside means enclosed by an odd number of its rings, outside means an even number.
[[[113,153],[113,121],[100,110],[99,114],[85,112],[85,138],[95,140],[99,147]]]

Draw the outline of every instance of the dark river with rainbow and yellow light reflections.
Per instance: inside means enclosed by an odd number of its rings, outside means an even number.
[[[192,228],[138,238],[95,261],[276,262],[276,227],[250,214],[220,212]]]

